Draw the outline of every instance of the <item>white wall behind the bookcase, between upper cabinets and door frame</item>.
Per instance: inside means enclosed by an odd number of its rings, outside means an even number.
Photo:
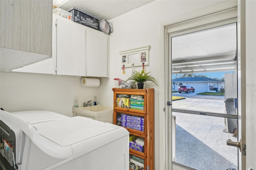
[[[164,56],[161,55],[163,47],[160,46],[163,35],[161,24],[174,18],[178,20],[181,15],[221,2],[215,0],[156,0],[111,20],[114,32],[110,35],[110,79],[103,81],[104,86],[100,88],[101,97],[106,99],[113,95],[111,88],[114,87],[114,78],[126,79],[131,75],[132,68],[125,68],[125,74],[122,74],[119,51],[150,45],[149,65],[146,65],[145,69],[151,71],[159,82],[158,87],[151,82],[146,82],[146,88],[155,89],[155,169],[163,169],[165,166],[162,164],[165,159],[165,149],[162,148],[165,141],[162,138],[159,139],[160,133],[164,133],[164,129],[159,128],[159,125],[163,124],[162,120],[160,122],[159,115],[164,114],[163,108],[159,107],[159,101],[164,97],[162,88]],[[135,67],[137,71],[141,69],[142,67]],[[104,100],[103,104],[113,105],[113,100]]]

